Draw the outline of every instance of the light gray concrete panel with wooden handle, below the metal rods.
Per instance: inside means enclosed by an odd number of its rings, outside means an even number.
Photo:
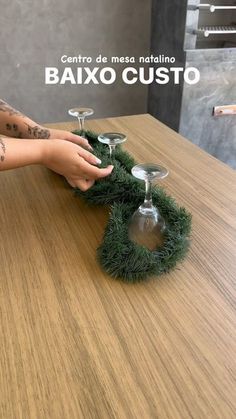
[[[236,103],[236,48],[187,51],[186,67],[198,67],[201,81],[184,84],[179,132],[236,169],[236,116],[212,115]]]

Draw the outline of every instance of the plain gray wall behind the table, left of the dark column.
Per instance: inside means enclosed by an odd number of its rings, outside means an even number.
[[[63,69],[63,54],[149,55],[151,0],[0,0],[0,9],[0,98],[38,122],[69,120],[76,105],[97,118],[146,112],[147,86],[49,86],[44,68]]]

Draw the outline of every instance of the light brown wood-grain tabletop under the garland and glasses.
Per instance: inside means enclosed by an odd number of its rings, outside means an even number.
[[[87,127],[169,168],[191,250],[170,274],[116,281],[96,261],[106,208],[44,167],[2,172],[0,417],[235,418],[236,172],[150,115]]]

